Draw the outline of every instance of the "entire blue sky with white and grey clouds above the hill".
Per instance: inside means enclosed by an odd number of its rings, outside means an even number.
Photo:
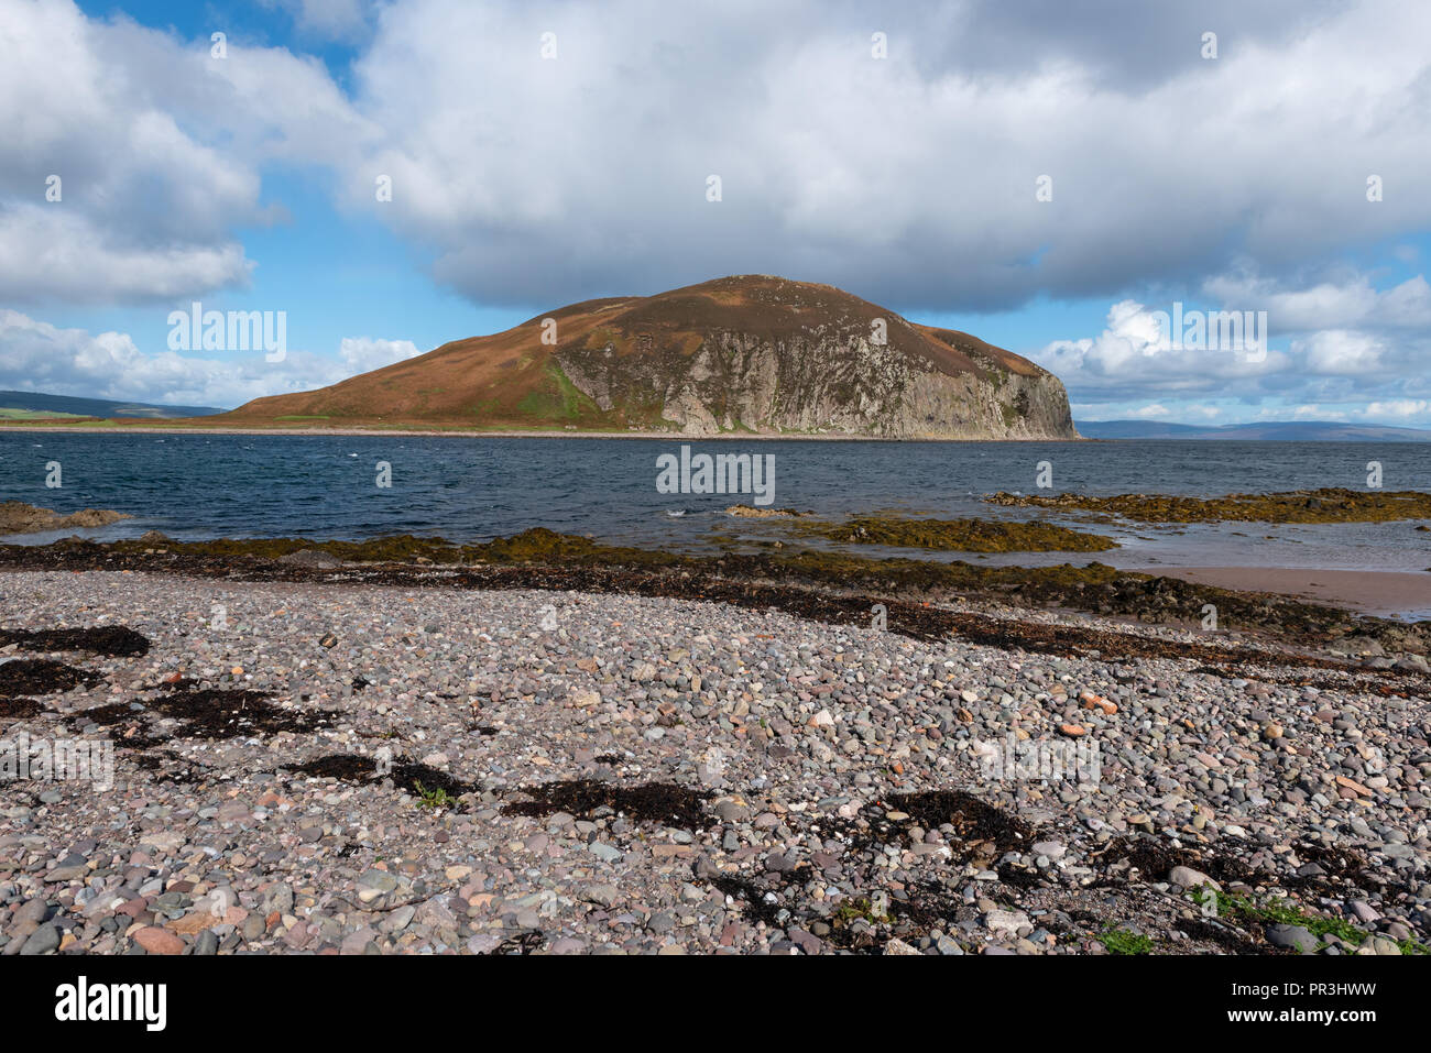
[[[1427,40],[1400,0],[0,0],[0,389],[229,408],[777,273],[1080,421],[1431,428]]]

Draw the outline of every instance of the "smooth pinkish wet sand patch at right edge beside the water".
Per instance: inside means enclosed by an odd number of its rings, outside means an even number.
[[[1431,564],[1431,552],[1427,554]],[[1249,592],[1279,592],[1349,607],[1382,618],[1431,618],[1431,574],[1407,571],[1309,571],[1282,567],[1139,567],[1143,574]]]

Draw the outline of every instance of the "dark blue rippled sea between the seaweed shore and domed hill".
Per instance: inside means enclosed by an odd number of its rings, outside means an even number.
[[[1000,489],[1035,491],[1040,461],[1052,462],[1053,492],[1364,489],[1368,461],[1381,462],[1385,489],[1431,489],[1431,444],[767,439],[688,445],[695,454],[773,455],[774,505],[826,515],[897,509],[1045,516],[980,501]],[[678,454],[680,446],[680,439],[3,432],[0,498],[62,512],[112,508],[135,515],[103,531],[83,531],[97,538],[159,529],[186,539],[406,532],[471,541],[548,526],[608,541],[701,549],[713,531],[780,535],[778,526],[721,512],[736,502],[754,504],[748,495],[658,494],[657,456]],[[59,489],[44,485],[52,461],[62,466]],[[392,465],[391,489],[376,485],[379,461]],[[1108,526],[1095,529],[1109,532]],[[1129,525],[1112,534],[1123,547],[1098,558],[1123,567],[1431,567],[1431,535],[1417,534],[1412,524]],[[1013,557],[1023,564],[1069,558]]]

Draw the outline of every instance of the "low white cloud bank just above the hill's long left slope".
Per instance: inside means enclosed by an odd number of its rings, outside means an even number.
[[[263,395],[308,391],[376,369],[418,351],[411,341],[348,338],[339,359],[289,351],[197,358],[146,353],[127,333],[59,329],[17,310],[0,310],[0,388],[52,395],[232,409]]]

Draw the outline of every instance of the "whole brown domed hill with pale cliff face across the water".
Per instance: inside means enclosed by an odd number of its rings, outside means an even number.
[[[230,416],[487,428],[1076,438],[1056,376],[830,286],[726,278],[591,300]]]

